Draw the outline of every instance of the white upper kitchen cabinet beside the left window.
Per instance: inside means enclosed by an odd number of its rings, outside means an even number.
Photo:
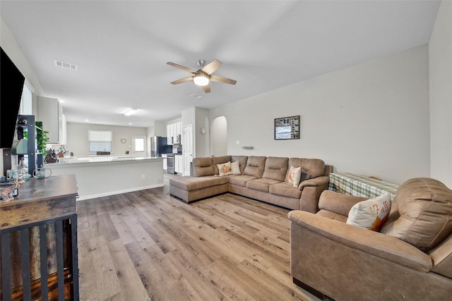
[[[63,108],[56,98],[38,97],[37,121],[42,121],[42,129],[49,132],[47,137],[52,143],[65,143]]]

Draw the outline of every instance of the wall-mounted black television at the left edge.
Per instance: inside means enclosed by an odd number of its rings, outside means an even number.
[[[0,149],[10,149],[16,132],[25,77],[5,51],[0,49]]]

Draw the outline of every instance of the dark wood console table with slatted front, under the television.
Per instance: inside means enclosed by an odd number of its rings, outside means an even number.
[[[76,176],[32,179],[0,202],[0,300],[78,300]]]

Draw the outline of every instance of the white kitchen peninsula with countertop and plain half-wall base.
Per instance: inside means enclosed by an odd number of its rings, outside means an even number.
[[[78,200],[163,186],[163,159],[131,155],[71,156],[44,164],[52,176],[75,174]],[[49,171],[47,171],[49,174]]]

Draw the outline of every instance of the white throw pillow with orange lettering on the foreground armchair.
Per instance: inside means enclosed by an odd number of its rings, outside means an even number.
[[[391,211],[391,194],[388,192],[355,204],[348,213],[347,223],[378,232],[388,219],[389,211]]]

